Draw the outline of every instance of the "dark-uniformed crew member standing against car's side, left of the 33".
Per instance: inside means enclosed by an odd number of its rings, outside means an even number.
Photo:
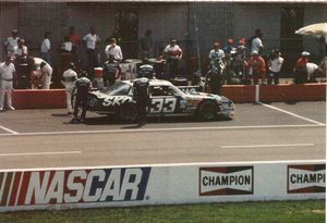
[[[149,101],[148,86],[149,80],[146,77],[134,80],[133,99],[136,101],[138,126],[146,123],[146,108]]]

